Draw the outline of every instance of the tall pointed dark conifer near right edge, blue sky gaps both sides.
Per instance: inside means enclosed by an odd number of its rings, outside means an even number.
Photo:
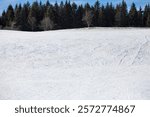
[[[138,12],[134,3],[131,5],[129,11],[129,25],[132,27],[138,26]]]

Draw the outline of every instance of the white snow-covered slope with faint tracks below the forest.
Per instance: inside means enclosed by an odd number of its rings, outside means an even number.
[[[0,30],[0,99],[150,99],[150,29]]]

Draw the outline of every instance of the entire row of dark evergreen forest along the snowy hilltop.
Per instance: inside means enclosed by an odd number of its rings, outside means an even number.
[[[113,6],[112,3],[101,5],[99,0],[94,5],[77,5],[70,1],[59,4],[45,4],[35,1],[13,8],[9,5],[0,16],[0,28],[22,31],[42,31],[82,27],[150,27],[150,4],[144,9],[136,8],[135,3],[127,8],[126,2]]]

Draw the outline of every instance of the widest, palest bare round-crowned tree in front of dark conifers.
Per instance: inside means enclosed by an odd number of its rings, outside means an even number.
[[[44,30],[52,30],[54,28],[54,22],[49,17],[45,17],[41,21],[41,26]]]

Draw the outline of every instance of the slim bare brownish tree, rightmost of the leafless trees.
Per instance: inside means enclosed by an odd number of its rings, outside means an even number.
[[[91,10],[86,10],[85,11],[85,16],[83,17],[83,21],[86,22],[88,28],[91,26],[92,19],[93,19],[92,11]]]

